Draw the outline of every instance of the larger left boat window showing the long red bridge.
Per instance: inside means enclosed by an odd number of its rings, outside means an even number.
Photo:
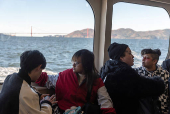
[[[0,80],[20,67],[20,55],[39,50],[45,71],[56,74],[72,68],[72,55],[93,51],[94,14],[85,0],[1,0]]]

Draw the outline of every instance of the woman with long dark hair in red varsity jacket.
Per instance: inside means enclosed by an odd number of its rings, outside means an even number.
[[[60,72],[59,75],[42,73],[36,83],[48,88],[55,87],[56,100],[62,112],[72,106],[83,106],[87,103],[87,91],[90,85],[93,85],[90,102],[98,101],[103,114],[115,114],[110,96],[95,68],[94,54],[86,49],[79,50],[73,55],[72,63],[72,69]]]

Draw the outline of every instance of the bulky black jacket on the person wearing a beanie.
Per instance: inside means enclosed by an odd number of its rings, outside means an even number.
[[[164,92],[160,77],[143,77],[129,65],[108,60],[100,71],[117,114],[138,114],[139,99],[159,96]]]

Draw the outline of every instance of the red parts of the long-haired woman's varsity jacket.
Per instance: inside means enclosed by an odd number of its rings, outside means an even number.
[[[47,78],[46,73],[43,73],[36,83],[43,86],[45,85],[44,82],[47,81]],[[104,86],[104,83],[101,78],[98,78],[94,82],[90,102],[94,103],[95,100],[97,100],[97,90],[102,86]],[[55,93],[58,106],[62,110],[69,109],[72,106],[83,106],[87,102],[86,83],[82,83],[79,86],[77,76],[73,73],[73,69],[67,69],[59,73]],[[114,108],[101,108],[101,110],[103,111],[103,114],[115,114]]]

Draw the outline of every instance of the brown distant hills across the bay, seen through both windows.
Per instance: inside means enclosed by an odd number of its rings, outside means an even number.
[[[88,36],[87,36],[88,32]],[[93,29],[77,30],[65,35],[64,37],[72,38],[93,38]],[[154,30],[154,31],[134,31],[132,29],[117,29],[112,30],[111,38],[115,39],[168,39],[170,36],[170,29]]]

